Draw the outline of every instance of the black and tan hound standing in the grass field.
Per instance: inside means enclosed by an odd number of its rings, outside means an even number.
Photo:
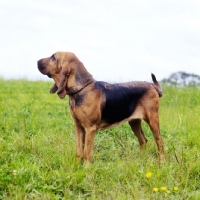
[[[150,126],[159,155],[164,157],[158,115],[162,89],[155,75],[151,75],[154,83],[109,84],[95,81],[83,63],[70,52],[57,52],[39,60],[38,69],[54,79],[50,93],[57,92],[60,98],[69,96],[75,123],[77,157],[90,161],[95,132],[126,121],[142,148],[147,142],[141,127],[142,120]]]

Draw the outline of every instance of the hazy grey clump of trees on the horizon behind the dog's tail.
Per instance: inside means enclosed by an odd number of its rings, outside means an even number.
[[[167,85],[175,86],[200,86],[200,76],[186,72],[176,72],[161,81]]]

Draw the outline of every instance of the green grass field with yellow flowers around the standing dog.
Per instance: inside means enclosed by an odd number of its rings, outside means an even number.
[[[200,89],[163,86],[160,127],[166,160],[151,131],[141,153],[124,124],[99,131],[93,161],[75,158],[68,99],[52,82],[0,80],[0,199],[200,199]]]

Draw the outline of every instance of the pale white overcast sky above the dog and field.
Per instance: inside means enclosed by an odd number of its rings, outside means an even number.
[[[0,0],[0,77],[49,80],[37,60],[70,51],[96,80],[200,75],[199,0]]]

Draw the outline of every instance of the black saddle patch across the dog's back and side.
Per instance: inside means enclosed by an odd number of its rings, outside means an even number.
[[[109,84],[97,81],[95,87],[100,89],[106,98],[102,119],[113,124],[130,117],[138,100],[148,90],[149,84],[147,82]]]

